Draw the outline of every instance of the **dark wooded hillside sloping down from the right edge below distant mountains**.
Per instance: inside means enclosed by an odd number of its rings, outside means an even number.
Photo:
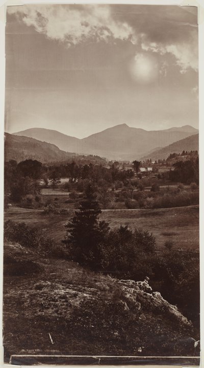
[[[141,158],[141,160],[145,159],[152,159],[152,160],[159,160],[159,159],[167,159],[170,154],[182,153],[183,150],[185,151],[195,151],[198,150],[199,146],[199,137],[198,134],[194,134],[190,137],[181,139],[180,141],[174,142],[169,144],[166,147],[157,149],[155,151],[151,151],[148,155]]]

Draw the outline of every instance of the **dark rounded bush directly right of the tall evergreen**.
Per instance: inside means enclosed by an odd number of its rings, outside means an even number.
[[[111,230],[106,242],[100,244],[99,266],[117,277],[140,279],[151,275],[155,256],[156,240],[152,234],[142,229],[133,232],[127,226]]]

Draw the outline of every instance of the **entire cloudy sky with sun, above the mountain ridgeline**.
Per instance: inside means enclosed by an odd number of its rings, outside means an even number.
[[[197,8],[7,8],[5,130],[198,127]]]

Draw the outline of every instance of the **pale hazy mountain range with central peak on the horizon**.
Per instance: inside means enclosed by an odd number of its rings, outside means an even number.
[[[149,150],[166,146],[177,140],[197,134],[188,125],[163,131],[145,131],[120,124],[103,132],[78,139],[44,128],[32,128],[15,135],[32,137],[57,145],[60,149],[78,154],[92,154],[117,160],[133,160],[146,155]]]

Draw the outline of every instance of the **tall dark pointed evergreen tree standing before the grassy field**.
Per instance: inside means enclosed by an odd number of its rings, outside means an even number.
[[[63,243],[67,245],[70,258],[92,268],[100,264],[100,246],[109,231],[108,223],[98,220],[100,213],[96,194],[89,184],[80,209],[65,225],[67,232]]]

